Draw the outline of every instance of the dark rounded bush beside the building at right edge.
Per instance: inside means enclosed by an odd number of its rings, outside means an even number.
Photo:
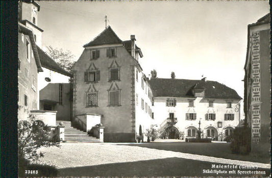
[[[230,144],[232,153],[248,155],[251,151],[251,130],[248,126],[234,129]]]

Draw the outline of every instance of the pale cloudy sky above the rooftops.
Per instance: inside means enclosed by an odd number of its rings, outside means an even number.
[[[148,77],[217,81],[243,97],[248,24],[269,13],[268,1],[39,1],[42,47],[70,50],[77,61],[83,45],[107,25],[121,40],[135,35]]]

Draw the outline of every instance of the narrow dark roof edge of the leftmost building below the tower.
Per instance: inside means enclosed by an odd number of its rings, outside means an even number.
[[[26,26],[24,26],[22,23],[18,22],[18,31],[29,36],[38,72],[42,72],[43,70],[41,68],[40,57],[39,57],[38,50],[37,50],[38,46],[35,43],[35,39],[34,39],[34,35],[33,35],[32,30],[27,28]]]

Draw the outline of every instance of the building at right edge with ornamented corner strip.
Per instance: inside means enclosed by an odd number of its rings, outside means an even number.
[[[270,143],[270,63],[269,13],[248,26],[248,48],[244,65],[244,113],[252,131],[253,143]]]

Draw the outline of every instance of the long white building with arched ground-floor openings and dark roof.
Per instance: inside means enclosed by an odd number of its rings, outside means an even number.
[[[235,90],[215,81],[151,78],[154,118],[162,135],[171,139],[202,137],[221,140],[239,124],[239,102]],[[200,125],[199,125],[200,123]]]

